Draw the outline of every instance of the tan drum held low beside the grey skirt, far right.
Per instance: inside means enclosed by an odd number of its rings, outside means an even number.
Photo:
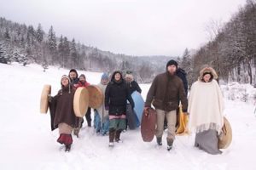
[[[222,127],[222,134],[218,138],[218,149],[225,149],[230,146],[232,141],[232,129],[230,122],[224,117],[224,125]]]

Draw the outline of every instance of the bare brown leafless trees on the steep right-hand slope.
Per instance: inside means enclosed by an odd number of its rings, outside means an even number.
[[[207,27],[214,38],[193,55],[193,72],[198,73],[202,65],[211,65],[225,82],[255,84],[256,1],[247,0],[228,23],[218,26],[212,26],[212,31],[211,26]]]

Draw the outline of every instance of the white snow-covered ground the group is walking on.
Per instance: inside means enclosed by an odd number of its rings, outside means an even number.
[[[144,143],[140,130],[122,133],[122,144],[108,148],[108,136],[97,136],[86,123],[81,137],[73,136],[71,152],[65,153],[56,142],[58,131],[50,131],[49,114],[39,113],[39,99],[44,84],[52,85],[52,94],[60,88],[60,77],[67,70],[41,66],[0,64],[0,169],[256,169],[256,116],[253,100],[225,100],[224,115],[233,128],[233,141],[224,153],[212,156],[193,147],[194,135],[177,136],[174,149]],[[82,72],[96,84],[101,73]],[[145,98],[149,85],[141,84]],[[223,88],[229,94],[230,88]],[[255,88],[248,89],[255,94]],[[230,94],[228,98],[232,98]],[[166,133],[164,134],[164,139]]]

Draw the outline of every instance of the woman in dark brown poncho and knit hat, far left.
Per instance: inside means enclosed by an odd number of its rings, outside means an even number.
[[[61,89],[54,97],[49,96],[49,111],[51,117],[51,128],[59,128],[60,137],[57,142],[65,144],[66,151],[71,149],[73,143],[72,131],[78,127],[77,116],[73,111],[73,97],[75,89],[71,86],[69,77],[61,77]]]

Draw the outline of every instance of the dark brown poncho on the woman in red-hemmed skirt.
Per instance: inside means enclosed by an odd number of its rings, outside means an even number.
[[[73,111],[74,93],[74,88],[64,87],[51,99],[49,111],[52,130],[57,128],[61,122],[65,122],[71,127],[78,126],[76,122],[78,122],[79,117],[75,116]]]

